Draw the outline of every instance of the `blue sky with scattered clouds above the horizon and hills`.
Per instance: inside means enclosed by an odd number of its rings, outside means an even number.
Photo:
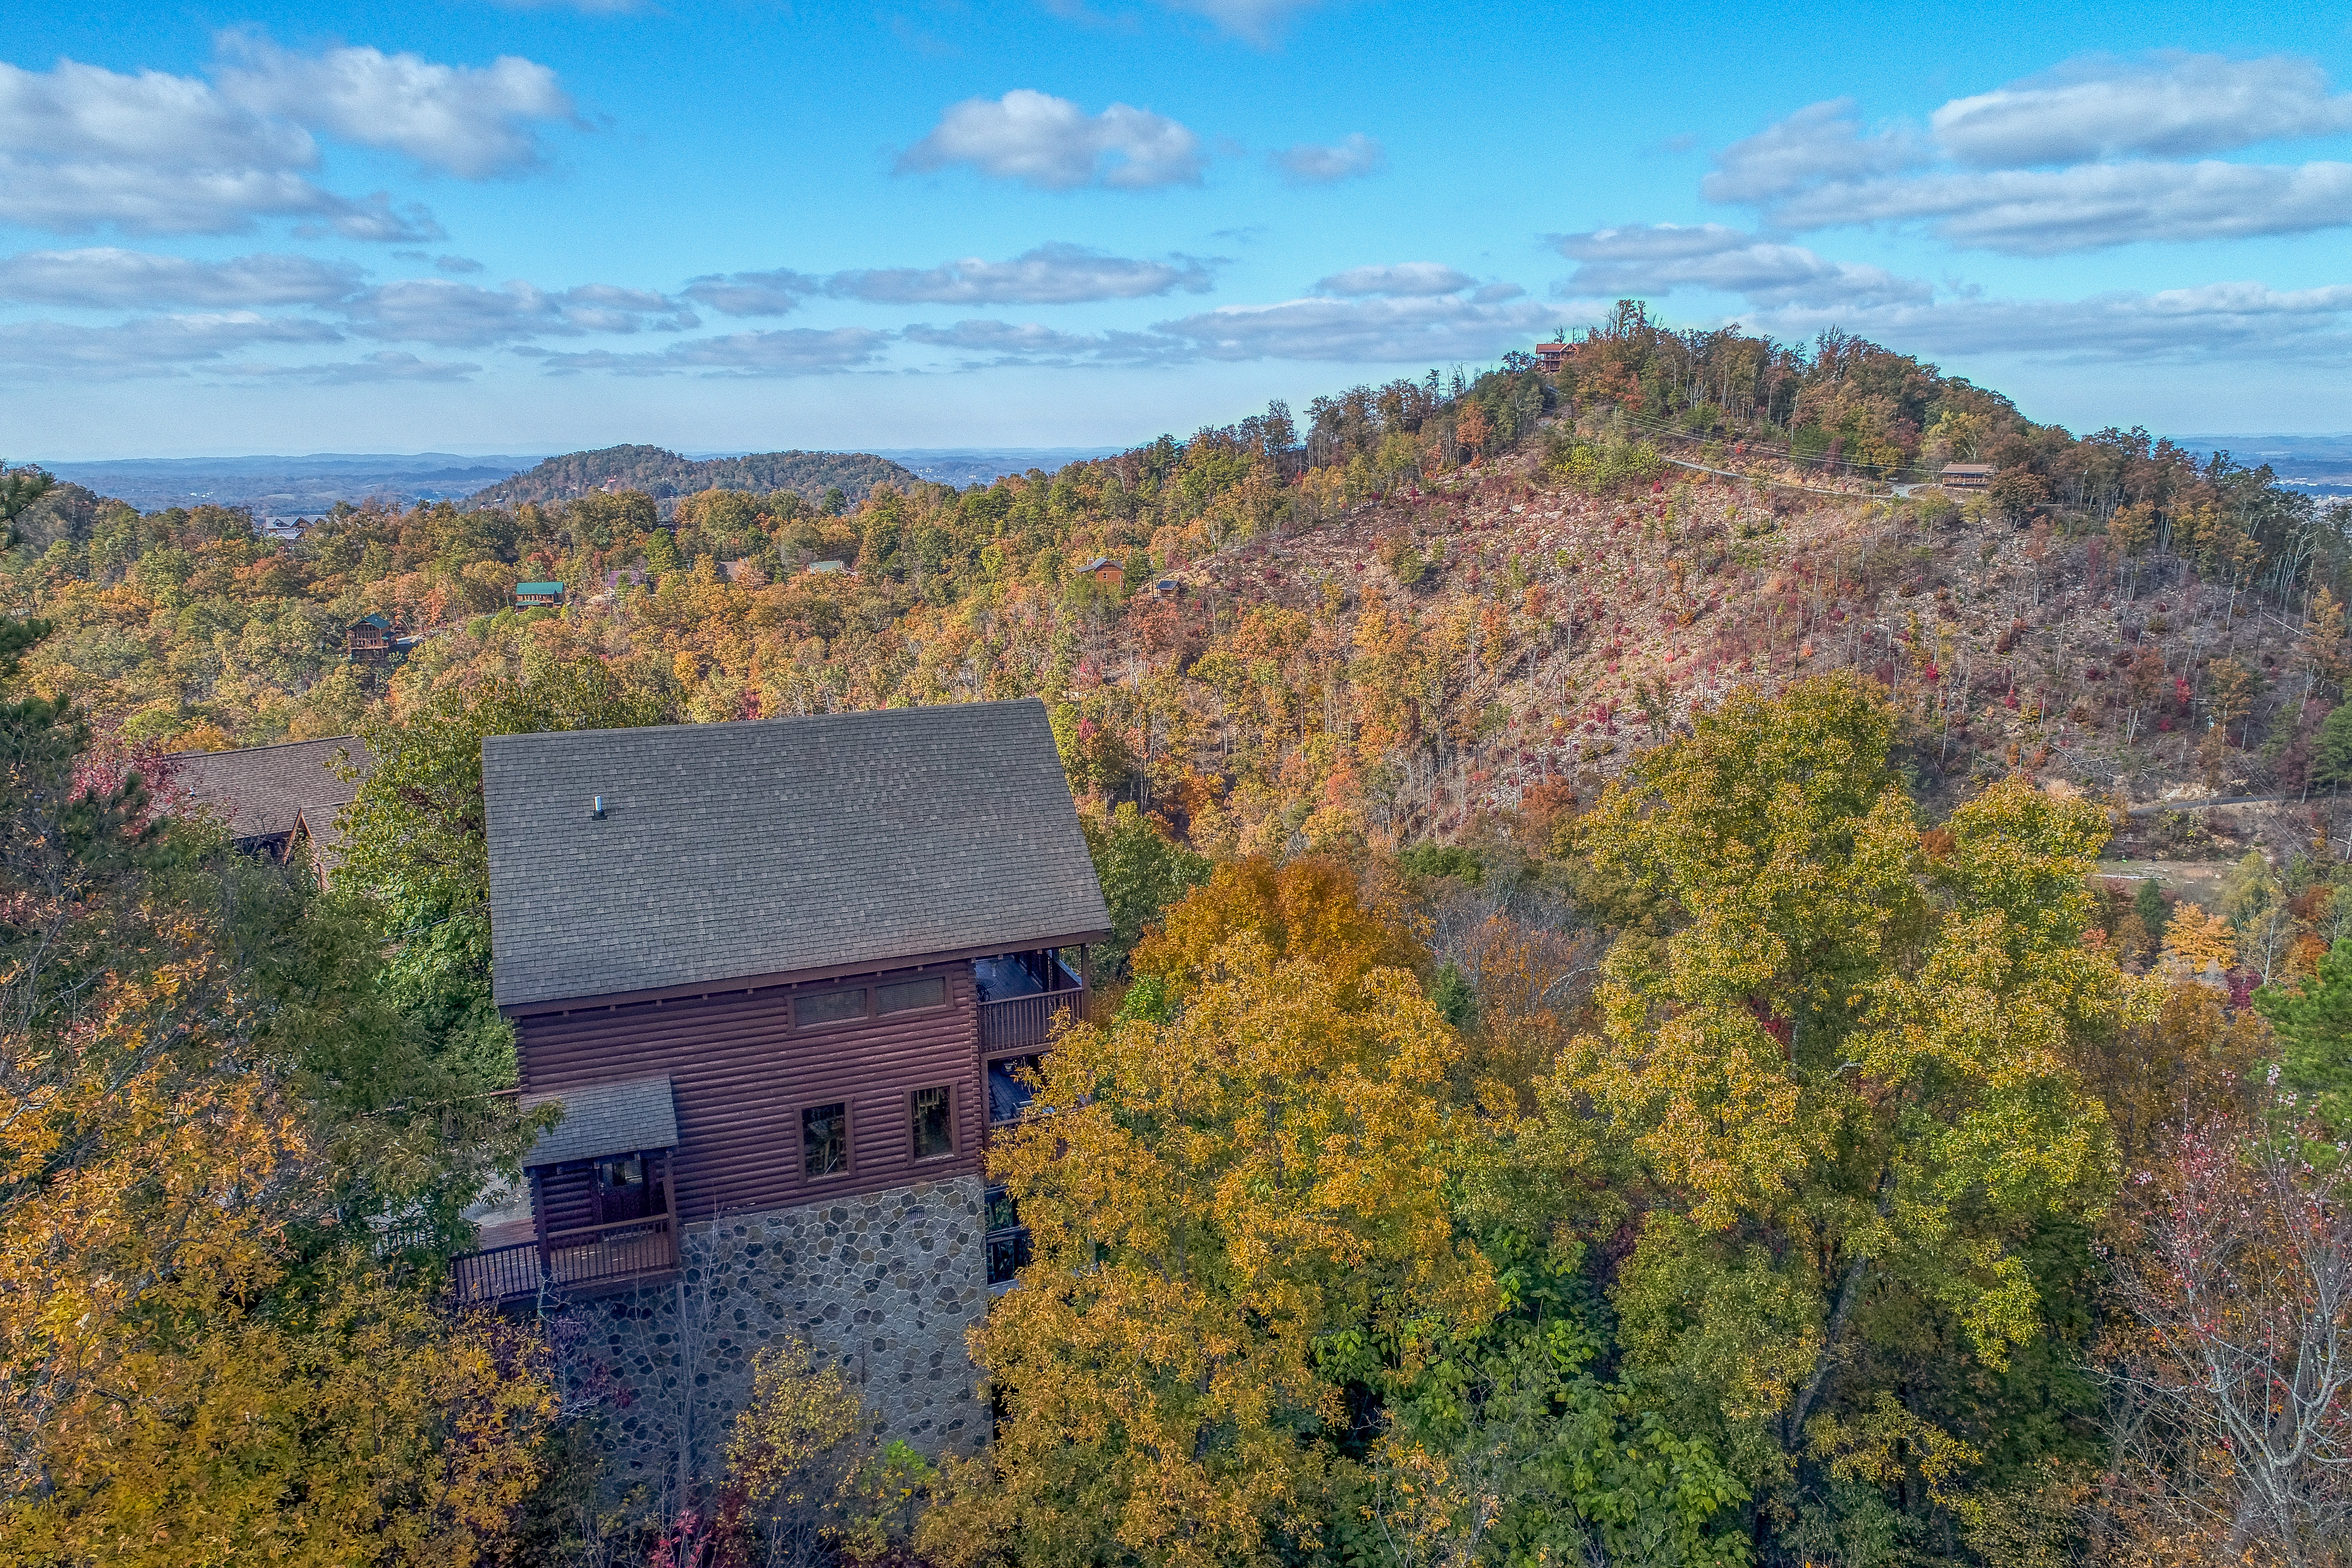
[[[198,0],[0,54],[12,461],[1127,444],[1618,294],[2352,430],[2352,24]]]

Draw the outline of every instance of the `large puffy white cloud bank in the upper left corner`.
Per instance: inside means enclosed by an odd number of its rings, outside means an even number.
[[[423,207],[315,183],[313,132],[397,148],[468,179],[529,167],[532,127],[567,118],[546,66],[437,66],[414,54],[292,54],[226,35],[216,82],[80,61],[0,63],[0,221],[52,233],[219,235],[256,219],[416,244],[442,237]]]

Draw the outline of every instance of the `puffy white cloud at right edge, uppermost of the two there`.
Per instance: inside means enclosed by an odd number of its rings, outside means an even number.
[[[1929,127],[1945,153],[1980,169],[2133,153],[2194,158],[2352,129],[2352,94],[2331,94],[2326,71],[2284,54],[2093,59],[1952,99],[1929,115]]]

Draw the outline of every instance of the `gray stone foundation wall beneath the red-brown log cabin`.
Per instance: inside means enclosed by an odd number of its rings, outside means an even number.
[[[727,1215],[680,1232],[677,1284],[572,1302],[555,1324],[564,1396],[602,1415],[616,1493],[722,1469],[764,1345],[842,1366],[887,1436],[969,1453],[988,1434],[964,1331],[988,1312],[981,1180]]]

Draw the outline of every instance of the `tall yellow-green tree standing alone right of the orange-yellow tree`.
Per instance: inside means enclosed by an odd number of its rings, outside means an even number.
[[[1656,1190],[1613,1288],[1632,1378],[1769,1488],[1945,1488],[1966,1443],[1872,1385],[1879,1335],[1999,1375],[2044,1331],[2023,1239],[2110,1182],[2067,1065],[2131,1013],[2079,940],[2103,813],[2013,780],[1929,853],[1891,741],[1849,675],[1738,691],[1578,825],[1675,919],[1604,961],[1550,1105]]]

